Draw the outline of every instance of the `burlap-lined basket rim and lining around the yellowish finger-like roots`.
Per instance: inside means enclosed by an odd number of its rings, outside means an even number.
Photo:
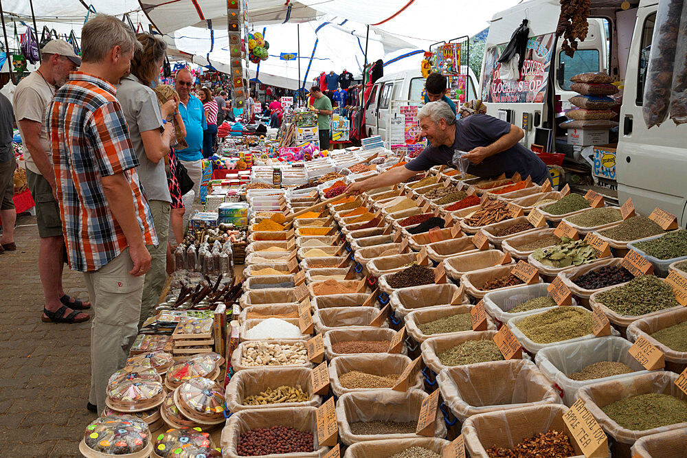
[[[231,413],[246,409],[278,409],[280,407],[319,407],[322,396],[313,394],[312,369],[305,367],[275,368],[271,371],[262,369],[245,369],[236,372],[227,385],[227,409]],[[268,388],[300,387],[308,393],[309,399],[302,402],[280,402],[274,404],[244,404],[245,398],[256,396]]]

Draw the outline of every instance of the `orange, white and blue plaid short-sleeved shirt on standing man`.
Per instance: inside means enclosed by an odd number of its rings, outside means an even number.
[[[157,244],[136,172],[139,161],[115,93],[109,82],[76,71],[45,113],[67,257],[75,271],[97,271],[128,247],[107,203],[103,176],[124,172],[144,243]]]

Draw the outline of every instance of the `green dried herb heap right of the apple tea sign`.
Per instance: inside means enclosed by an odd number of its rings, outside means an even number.
[[[621,399],[601,410],[622,428],[632,431],[687,422],[687,401],[662,393]]]

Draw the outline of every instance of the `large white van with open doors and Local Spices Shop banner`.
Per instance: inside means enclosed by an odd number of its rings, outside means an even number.
[[[622,9],[628,5],[630,8]],[[641,214],[649,215],[655,207],[661,207],[675,214],[682,225],[687,221],[687,125],[675,126],[666,119],[661,126],[649,130],[642,116],[656,10],[657,0],[640,0],[638,5],[621,0],[592,0],[589,35],[579,43],[572,59],[561,50],[561,39],[555,38],[561,12],[558,0],[530,0],[499,12],[489,28],[479,93],[488,114],[523,126],[523,143],[527,146],[543,144],[549,133],[547,149],[570,154],[572,146],[567,144],[567,132],[557,126],[560,119],[556,119],[569,106],[570,77],[584,71],[606,71],[622,82],[624,91],[614,176],[598,180],[609,187],[609,192],[602,194],[612,201],[615,188],[618,201],[631,197]],[[544,82],[537,87],[532,83],[534,78],[528,81],[529,87],[516,87],[513,91],[513,87],[495,84],[493,59],[499,54],[497,47],[510,41],[523,19],[528,19],[530,38],[537,38],[532,42],[532,56],[540,45],[542,51],[548,45],[553,49],[548,64],[539,54],[534,57],[542,64],[540,76],[543,74]],[[527,92],[528,89],[532,90]]]

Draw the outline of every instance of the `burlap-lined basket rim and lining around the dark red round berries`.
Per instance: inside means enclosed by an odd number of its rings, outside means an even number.
[[[224,458],[240,458],[238,442],[242,434],[255,428],[271,428],[271,426],[289,426],[299,431],[312,431],[314,448],[309,453],[270,453],[260,455],[262,458],[320,458],[329,451],[329,447],[319,446],[317,441],[316,407],[282,407],[279,409],[248,409],[232,415],[227,420],[227,426],[222,430],[222,456]]]

